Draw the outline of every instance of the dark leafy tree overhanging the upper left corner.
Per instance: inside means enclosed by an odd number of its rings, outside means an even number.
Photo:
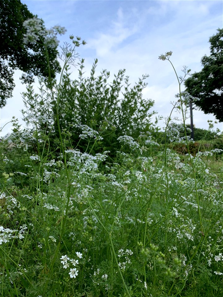
[[[29,30],[24,26],[27,19],[38,21],[42,32],[45,32],[38,43],[32,40],[24,42],[24,34]],[[6,100],[12,97],[15,87],[13,74],[14,70],[20,69],[25,72],[22,75],[24,83],[33,82],[33,75],[42,76],[46,82],[55,78],[57,72],[61,71],[57,61],[57,42],[54,46],[46,41],[55,38],[55,31],[46,30],[42,19],[37,19],[25,4],[20,0],[0,1],[0,107],[6,105]],[[51,35],[50,35],[51,34]],[[50,35],[50,38],[49,38]],[[53,35],[53,36],[52,36]],[[55,39],[54,39],[55,41]],[[48,52],[50,68],[46,67],[46,47]],[[51,80],[49,80],[51,77]]]

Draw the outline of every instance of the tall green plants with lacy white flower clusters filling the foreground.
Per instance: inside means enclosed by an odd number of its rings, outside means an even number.
[[[182,81],[173,110],[190,152]],[[215,151],[182,161],[147,133],[120,136],[111,160],[67,148],[58,110],[56,120],[57,157],[39,131],[36,151],[20,137],[11,150],[1,143],[0,295],[222,296],[223,167]],[[93,148],[100,134],[83,129]],[[176,131],[169,117],[166,137],[179,141]]]

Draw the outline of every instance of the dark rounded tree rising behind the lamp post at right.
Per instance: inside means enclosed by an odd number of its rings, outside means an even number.
[[[223,122],[223,29],[210,37],[211,54],[201,59],[203,69],[185,81],[186,91],[200,100],[195,101],[205,114],[212,113]]]

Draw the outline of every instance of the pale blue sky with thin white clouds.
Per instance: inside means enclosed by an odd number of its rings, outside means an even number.
[[[98,59],[96,75],[103,69],[111,73],[111,80],[119,69],[126,69],[126,75],[133,86],[143,74],[149,74],[143,97],[155,101],[151,110],[167,118],[173,108],[170,102],[179,93],[177,77],[168,61],[159,60],[160,54],[172,51],[171,61],[178,76],[187,66],[191,73],[202,69],[201,58],[210,54],[209,38],[223,27],[223,1],[203,0],[21,0],[28,10],[45,22],[46,28],[55,25],[67,29],[65,35],[58,36],[60,45],[69,42],[69,36],[80,36],[87,44],[78,48],[80,58],[85,59],[85,76],[90,75],[94,59]],[[77,69],[72,68],[72,78],[77,77]],[[15,71],[13,97],[1,109],[3,127],[12,116],[23,124],[20,110],[24,107],[21,92],[25,85]],[[37,90],[38,84],[35,84]],[[184,86],[181,90],[184,89]],[[213,114],[193,111],[195,127],[208,129],[208,120],[215,121]],[[165,120],[159,121],[164,127]],[[190,119],[186,121],[190,123]],[[222,123],[215,128],[223,130]],[[11,131],[7,124],[1,136]]]

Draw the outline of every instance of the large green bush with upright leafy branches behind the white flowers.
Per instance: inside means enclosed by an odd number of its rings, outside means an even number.
[[[98,77],[95,76],[96,65],[97,60],[93,64],[90,76],[85,77],[82,59],[79,63],[79,75],[75,80],[70,78],[69,68],[66,67],[61,88],[55,86],[54,99],[47,92],[43,82],[39,94],[35,94],[32,86],[28,85],[27,92],[23,93],[26,106],[23,110],[24,120],[29,127],[27,134],[34,135],[35,131],[38,131],[38,137],[41,139],[42,131],[42,135],[48,136],[50,149],[56,149],[59,131],[55,120],[55,98],[58,92],[60,129],[67,147],[75,148],[79,143],[78,148],[83,152],[109,150],[112,157],[115,150],[121,147],[117,140],[119,136],[127,134],[136,138],[141,132],[150,131],[153,127],[151,116],[155,114],[150,109],[154,101],[142,97],[148,75],[143,75],[138,83],[131,87],[125,70],[120,70],[110,83],[110,73],[107,70],[103,70]],[[81,125],[98,131],[103,140],[95,143],[92,138],[90,145],[89,138],[80,140]]]

